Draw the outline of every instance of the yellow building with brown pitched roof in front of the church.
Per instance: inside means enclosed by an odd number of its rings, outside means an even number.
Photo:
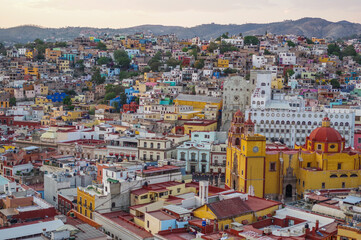
[[[250,224],[256,222],[258,217],[273,215],[280,205],[280,202],[262,198],[238,196],[205,204],[195,209],[193,215],[201,219],[217,220],[218,229],[225,230],[230,228],[233,222]]]

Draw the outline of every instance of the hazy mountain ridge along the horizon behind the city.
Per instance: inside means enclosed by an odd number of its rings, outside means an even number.
[[[225,32],[231,35],[259,35],[265,32],[274,34],[296,34],[306,37],[337,39],[354,34],[361,34],[361,24],[349,21],[331,22],[322,18],[305,17],[298,20],[285,20],[271,23],[245,24],[200,24],[193,27],[164,26],[160,24],[144,24],[127,28],[94,28],[94,27],[61,27],[49,28],[35,25],[22,25],[0,28],[0,42],[26,43],[36,38],[65,41],[80,35],[102,36],[104,34],[133,34],[151,32],[155,35],[175,33],[179,38],[186,39],[199,36],[202,39],[216,38]]]

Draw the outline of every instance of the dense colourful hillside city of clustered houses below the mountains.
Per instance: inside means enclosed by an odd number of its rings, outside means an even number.
[[[0,238],[360,239],[360,51],[271,33],[6,46]]]

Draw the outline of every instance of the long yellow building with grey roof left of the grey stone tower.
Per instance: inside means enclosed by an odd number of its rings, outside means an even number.
[[[222,98],[179,94],[174,100],[174,104],[192,106],[194,111],[202,111],[206,105],[215,105],[220,110],[222,108]]]

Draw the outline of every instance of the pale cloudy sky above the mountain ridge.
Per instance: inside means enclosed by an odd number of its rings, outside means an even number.
[[[0,27],[124,28],[269,23],[319,17],[361,23],[361,0],[0,0]]]

